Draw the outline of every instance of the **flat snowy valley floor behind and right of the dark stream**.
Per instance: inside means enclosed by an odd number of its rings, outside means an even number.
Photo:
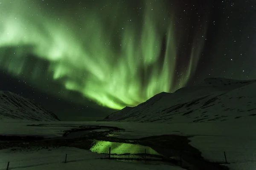
[[[84,124],[84,125],[106,125],[106,126],[120,127],[120,128],[124,128],[125,132],[122,132],[122,131],[115,132],[114,135],[120,138],[128,138],[128,139],[140,138],[145,136],[162,135],[162,134],[191,135],[193,136],[189,138],[192,141],[191,145],[201,150],[204,158],[209,159],[210,161],[224,162],[225,161],[224,151],[225,151],[227,154],[227,161],[230,163],[227,166],[230,167],[230,170],[255,170],[256,169],[256,134],[254,133],[255,124],[253,124],[253,122],[254,121],[252,120],[251,122],[246,122],[246,123],[241,123],[241,122],[229,122],[229,123],[207,122],[207,123],[176,123],[176,124],[131,123],[131,122],[129,123],[125,123],[125,122],[55,122],[55,123],[56,124],[74,123],[74,124]],[[11,134],[11,133],[25,134],[26,133],[26,134],[44,135],[48,137],[61,135],[61,132],[59,132],[60,129],[57,129],[57,128],[25,126],[27,124],[35,124],[35,122],[26,122],[26,123],[25,122],[21,122],[21,123],[15,123],[15,122],[2,123],[1,122],[0,133],[2,134],[3,133],[8,133],[8,134]],[[65,128],[68,129],[70,127],[65,127]],[[62,158],[61,158],[62,160],[63,160],[63,157],[64,156],[62,155]],[[99,160],[99,161],[104,162],[107,160],[104,160],[104,161]],[[117,164],[121,164],[121,163],[117,163]],[[76,164],[76,163],[72,163],[72,164]],[[130,163],[127,163],[127,164],[130,164]],[[55,166],[63,166],[63,165],[55,164]],[[116,166],[119,166],[119,165],[116,165]],[[61,168],[61,167],[58,167],[58,168]]]

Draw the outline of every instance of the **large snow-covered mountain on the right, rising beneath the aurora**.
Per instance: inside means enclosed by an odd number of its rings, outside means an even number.
[[[174,93],[162,92],[99,121],[192,123],[244,118],[256,118],[256,80],[207,78]]]

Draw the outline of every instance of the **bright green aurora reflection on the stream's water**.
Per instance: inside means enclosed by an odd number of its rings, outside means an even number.
[[[139,144],[126,144],[118,142],[108,142],[108,141],[95,141],[95,144],[90,148],[90,151],[96,153],[108,153],[109,147],[111,147],[111,153],[124,154],[124,153],[146,153],[152,155],[160,155],[151,147],[142,146]]]

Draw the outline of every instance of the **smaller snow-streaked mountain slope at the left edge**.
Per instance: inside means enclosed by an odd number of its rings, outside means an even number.
[[[59,119],[54,113],[32,100],[10,91],[0,91],[1,120],[56,121]]]

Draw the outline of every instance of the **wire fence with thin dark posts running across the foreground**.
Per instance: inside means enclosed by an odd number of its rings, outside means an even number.
[[[24,167],[34,167],[45,164],[56,164],[56,163],[69,163],[75,161],[85,161],[89,159],[128,159],[128,160],[151,160],[151,161],[162,161],[164,156],[160,154],[152,154],[150,150],[139,149],[130,150],[130,152],[124,153],[123,149],[111,147],[105,148],[101,154],[96,154],[96,156],[91,156],[90,154],[84,153],[62,153],[56,154],[54,156],[41,156],[32,159],[19,159],[10,161],[0,161],[0,170],[10,170],[15,168]],[[128,150],[126,150],[128,151]],[[232,162],[246,162],[246,161],[256,161],[256,153],[243,153],[243,152],[224,152],[224,151],[212,151],[203,150],[202,156],[209,160],[219,163],[232,163]],[[182,164],[182,154],[176,157],[176,160],[181,165]]]

